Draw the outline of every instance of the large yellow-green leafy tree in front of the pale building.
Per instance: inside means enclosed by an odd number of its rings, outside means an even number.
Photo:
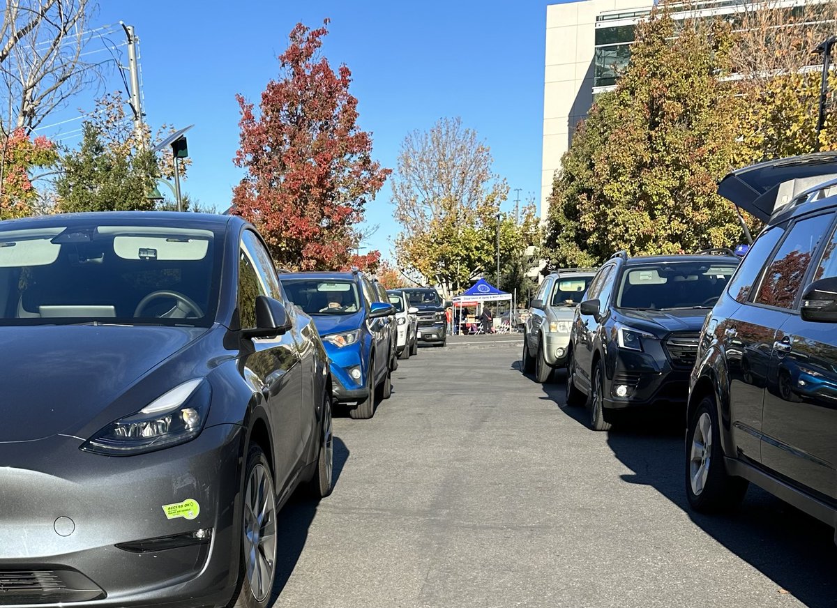
[[[552,190],[554,263],[588,265],[619,249],[679,253],[741,235],[716,181],[736,154],[741,101],[729,73],[732,31],[675,21],[667,8],[637,26],[631,60],[578,130]]]

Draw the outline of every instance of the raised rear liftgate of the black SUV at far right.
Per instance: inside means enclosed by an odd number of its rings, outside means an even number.
[[[767,222],[793,197],[837,178],[837,153],[780,158],[737,169],[718,182],[718,194]]]

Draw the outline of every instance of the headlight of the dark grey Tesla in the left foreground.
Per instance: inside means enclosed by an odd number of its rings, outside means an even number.
[[[111,422],[81,445],[85,452],[133,456],[198,437],[209,412],[211,391],[201,378],[183,382],[131,416]]]

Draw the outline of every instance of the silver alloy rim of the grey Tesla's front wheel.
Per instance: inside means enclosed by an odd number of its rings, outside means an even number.
[[[263,462],[250,469],[244,489],[244,571],[254,600],[273,588],[276,565],[276,497]]]

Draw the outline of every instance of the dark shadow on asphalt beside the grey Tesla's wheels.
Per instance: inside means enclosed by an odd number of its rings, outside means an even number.
[[[331,483],[334,488],[340,480],[343,467],[349,459],[349,448],[340,437],[334,437],[334,467],[331,473]],[[328,500],[323,498],[322,500]],[[273,605],[279,597],[296,563],[300,559],[302,549],[306,546],[308,529],[314,521],[319,501],[306,495],[304,488],[296,492],[279,513],[276,523],[276,580],[274,581],[269,605]]]

